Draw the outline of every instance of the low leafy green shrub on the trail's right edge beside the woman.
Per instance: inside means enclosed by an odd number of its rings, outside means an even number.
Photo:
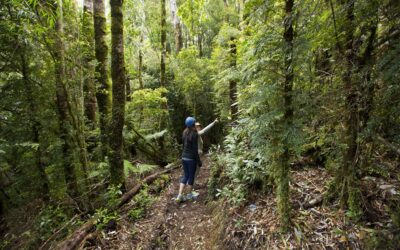
[[[267,191],[271,185],[271,168],[266,164],[267,159],[251,146],[248,130],[242,128],[248,125],[248,121],[241,120],[239,124],[226,137],[224,153],[213,153],[215,169],[209,183],[211,193],[217,189],[216,196],[226,197],[235,205],[246,201],[249,190]],[[224,166],[223,170],[221,166]],[[220,178],[227,178],[226,185],[217,188]]]

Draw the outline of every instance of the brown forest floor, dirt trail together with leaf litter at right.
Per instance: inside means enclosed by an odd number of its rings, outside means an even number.
[[[364,223],[352,223],[338,204],[325,206],[318,200],[326,191],[324,183],[332,178],[326,169],[293,169],[293,229],[282,234],[273,192],[253,190],[240,207],[223,200],[206,203],[210,161],[204,158],[203,162],[196,201],[178,204],[174,200],[182,174],[181,168],[175,169],[170,183],[157,194],[143,218],[132,221],[122,216],[115,231],[108,235],[103,232],[103,242],[96,246],[101,248],[93,249],[369,249],[368,244],[377,240],[376,233],[384,232],[388,239],[395,237],[384,204],[391,194],[399,192],[398,181],[363,179],[370,204],[367,213],[372,217],[369,215]],[[371,197],[369,190],[378,191]]]

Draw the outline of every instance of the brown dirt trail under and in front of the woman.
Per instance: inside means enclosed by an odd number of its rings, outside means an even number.
[[[134,223],[133,240],[126,248],[210,249],[207,244],[210,242],[211,211],[206,205],[208,159],[203,159],[203,167],[197,176],[195,190],[199,196],[195,201],[175,202],[181,175],[181,168],[172,173],[171,183],[149,209],[148,215]]]

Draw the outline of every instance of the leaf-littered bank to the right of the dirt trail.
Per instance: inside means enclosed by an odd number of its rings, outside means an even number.
[[[218,249],[399,249],[391,243],[398,231],[393,227],[388,206],[400,194],[398,181],[362,179],[365,217],[355,223],[337,203],[307,207],[326,191],[332,177],[323,168],[292,171],[292,224],[289,233],[279,232],[274,193],[253,193],[238,209],[220,205],[224,221],[215,242]],[[371,216],[372,215],[372,216]],[[388,243],[384,239],[388,239]],[[376,247],[379,246],[379,247]]]

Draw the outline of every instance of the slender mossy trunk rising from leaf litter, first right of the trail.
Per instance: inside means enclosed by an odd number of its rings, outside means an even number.
[[[294,0],[285,0],[284,19],[284,70],[285,81],[283,86],[283,130],[290,129],[293,124],[292,89],[293,89],[293,5]],[[283,132],[284,132],[283,131]],[[289,171],[290,171],[290,148],[288,139],[284,136],[283,153],[280,155],[278,167],[277,198],[278,211],[283,230],[287,230],[290,224],[290,202],[289,202]]]

